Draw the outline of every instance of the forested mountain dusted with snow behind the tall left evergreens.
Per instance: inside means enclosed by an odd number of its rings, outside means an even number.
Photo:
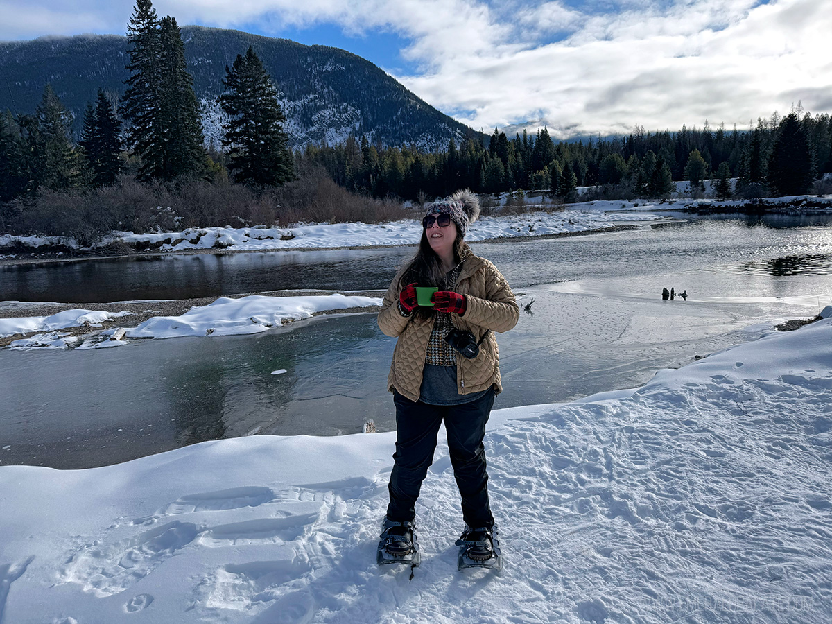
[[[263,61],[280,92],[292,146],[343,141],[350,134],[384,145],[447,147],[453,137],[479,136],[468,126],[428,105],[373,63],[336,47],[305,46],[247,32],[186,26],[182,39],[188,69],[201,99],[206,142],[219,146],[225,66],[249,46]],[[126,37],[79,35],[0,42],[0,111],[31,113],[48,83],[76,117],[99,87],[114,101],[128,76]],[[483,136],[484,138],[484,136]]]

